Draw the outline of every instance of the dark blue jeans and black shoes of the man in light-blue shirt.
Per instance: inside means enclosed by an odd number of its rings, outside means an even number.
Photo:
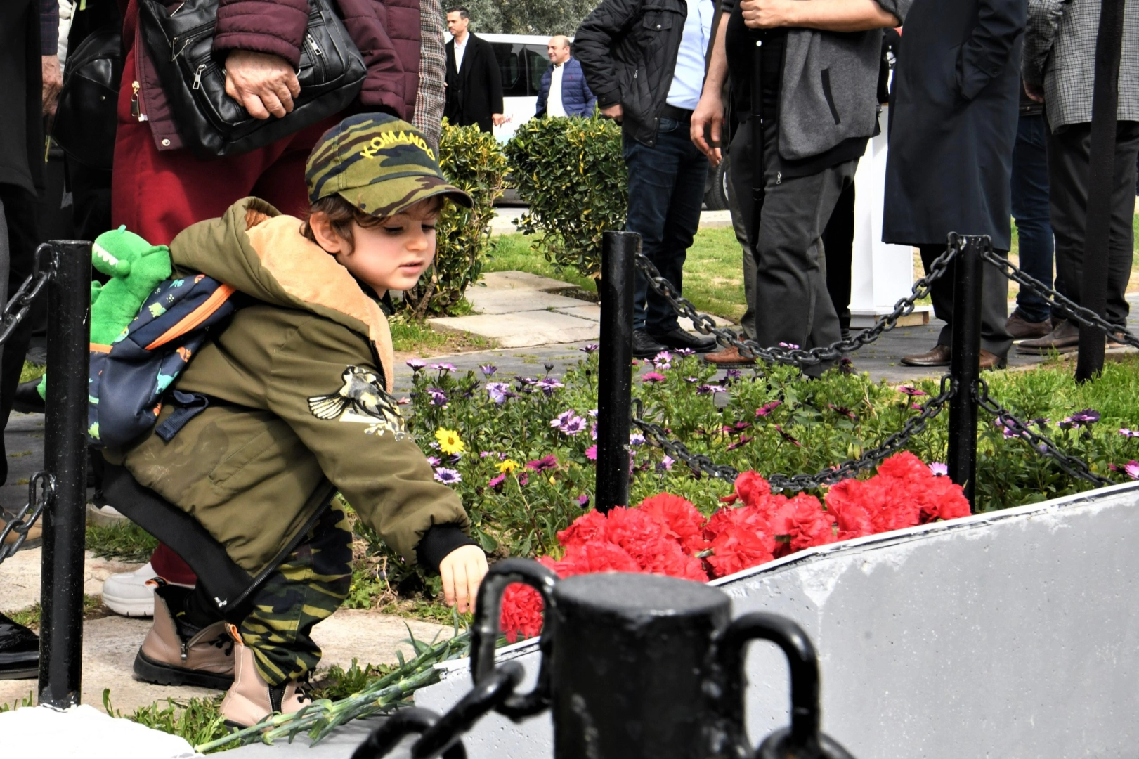
[[[680,291],[685,258],[700,225],[708,161],[688,138],[688,123],[672,119],[661,119],[655,147],[625,136],[623,153],[629,170],[625,230],[641,236],[641,252]],[[638,270],[633,329],[661,335],[677,327],[669,301],[650,292]]]

